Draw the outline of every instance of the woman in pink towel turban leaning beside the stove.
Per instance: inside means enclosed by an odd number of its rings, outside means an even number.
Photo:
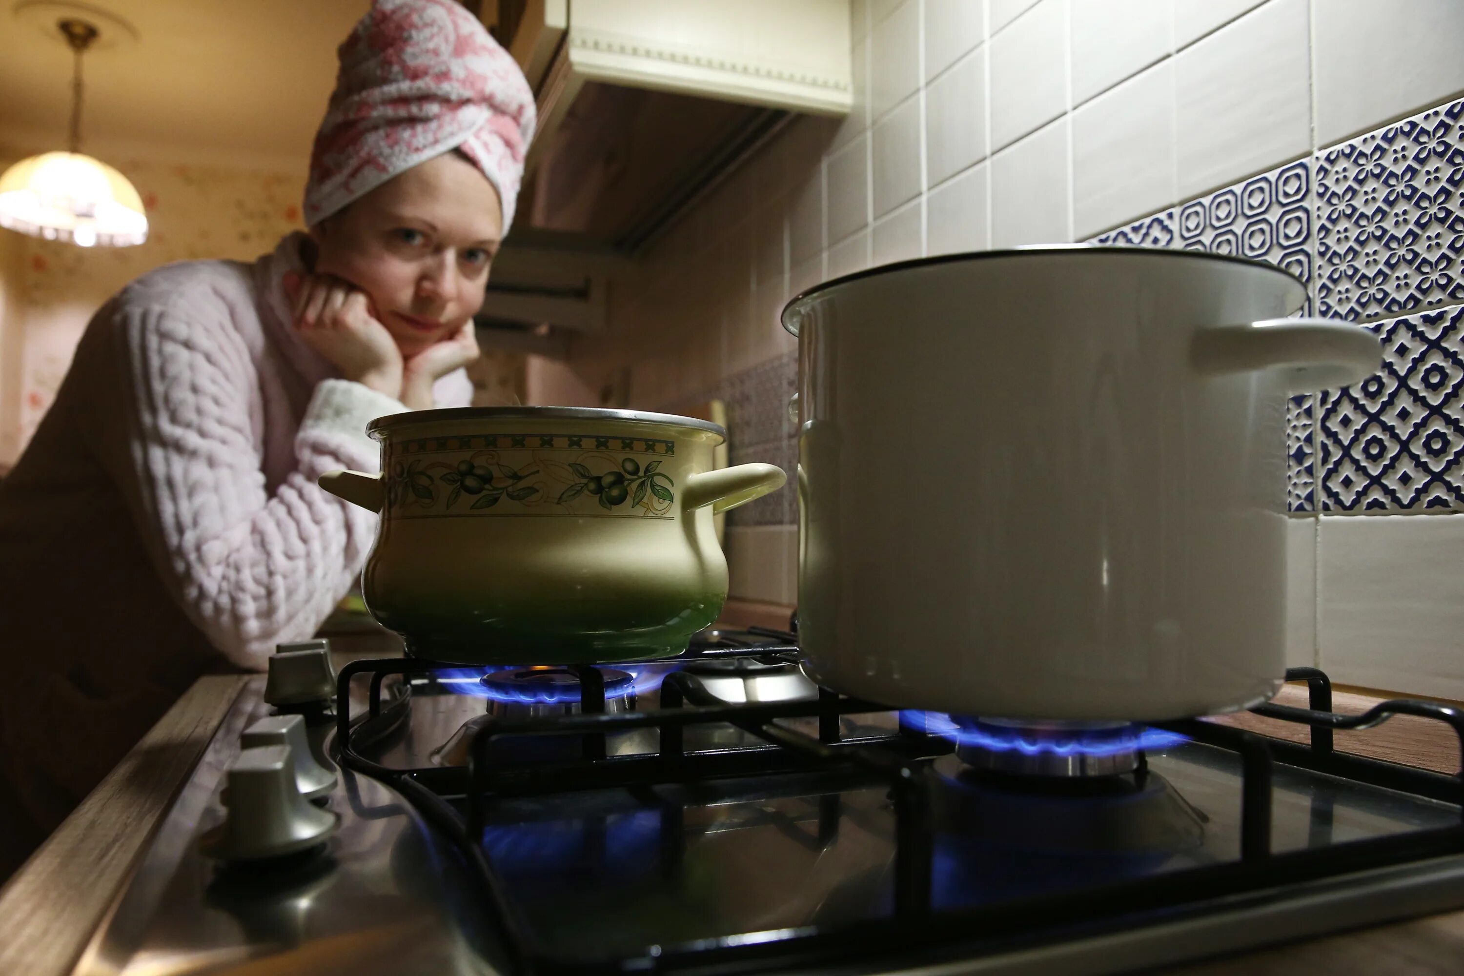
[[[201,673],[262,669],[350,588],[376,517],[316,478],[376,470],[373,417],[468,402],[533,123],[476,18],[378,0],[340,48],[310,233],[92,319],[0,487],[0,879]]]

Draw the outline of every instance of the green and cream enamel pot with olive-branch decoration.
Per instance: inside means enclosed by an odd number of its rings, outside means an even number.
[[[379,417],[382,474],[321,487],[381,512],[362,590],[410,653],[464,664],[668,657],[716,620],[713,514],[782,487],[713,468],[726,432],[691,417],[468,407]]]

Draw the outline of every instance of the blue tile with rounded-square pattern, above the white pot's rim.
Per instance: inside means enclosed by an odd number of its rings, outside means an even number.
[[[1184,250],[1280,265],[1310,288],[1312,161],[1288,162],[1184,203],[1177,231]]]

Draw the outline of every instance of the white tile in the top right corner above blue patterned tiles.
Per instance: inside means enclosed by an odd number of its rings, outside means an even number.
[[[1464,92],[1460,0],[1323,0],[1313,18],[1318,145]]]

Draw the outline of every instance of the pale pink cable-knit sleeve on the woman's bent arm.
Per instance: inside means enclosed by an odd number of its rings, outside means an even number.
[[[321,382],[294,439],[296,468],[268,492],[256,436],[262,394],[237,337],[167,306],[127,309],[119,325],[139,530],[214,647],[261,669],[277,642],[305,639],[325,620],[375,537],[378,517],[316,478],[376,471],[366,423],[406,407],[360,383]]]

